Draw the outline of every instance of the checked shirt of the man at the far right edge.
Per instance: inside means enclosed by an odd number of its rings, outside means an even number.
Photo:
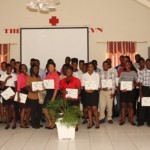
[[[139,75],[139,82],[143,86],[150,86],[150,70],[144,69]]]

